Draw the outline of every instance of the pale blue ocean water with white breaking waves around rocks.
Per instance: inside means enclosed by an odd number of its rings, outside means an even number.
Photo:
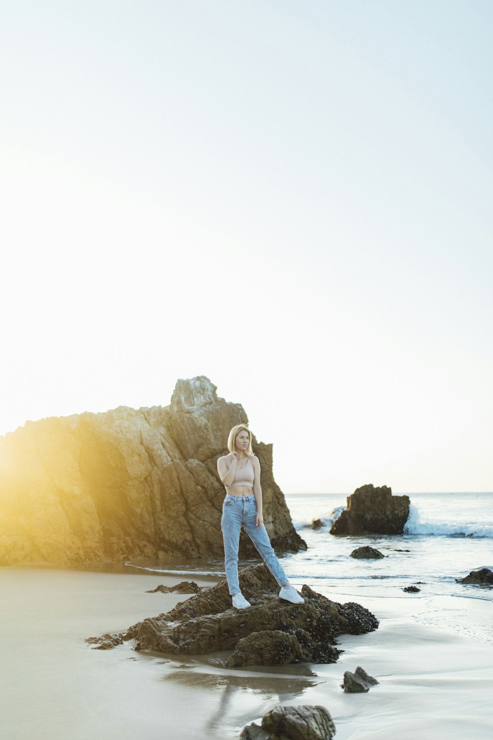
[[[355,601],[405,599],[415,622],[493,644],[493,588],[456,581],[478,568],[493,570],[493,493],[408,494],[402,535],[336,537],[330,524],[346,505],[344,494],[286,494],[293,525],[308,549],[280,557],[293,585],[306,583],[328,598]],[[313,519],[322,519],[318,530]],[[361,560],[351,551],[371,545],[383,559]],[[242,560],[239,568],[259,562]],[[177,576],[224,576],[222,559],[127,564]],[[418,585],[419,593],[403,588]],[[378,616],[378,614],[377,614]]]

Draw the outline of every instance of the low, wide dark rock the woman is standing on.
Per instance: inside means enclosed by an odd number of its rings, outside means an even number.
[[[338,604],[307,585],[301,592],[304,604],[279,599],[279,586],[263,564],[245,568],[239,574],[239,585],[251,602],[248,609],[231,607],[228,584],[221,581],[169,612],[138,622],[123,639],[135,639],[136,650],[168,654],[234,650],[229,667],[334,663],[340,653],[333,647],[337,637],[378,627],[375,616],[361,605]]]

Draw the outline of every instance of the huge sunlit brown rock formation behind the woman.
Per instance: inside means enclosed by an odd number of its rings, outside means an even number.
[[[178,380],[165,408],[52,417],[0,437],[0,564],[221,556],[217,458],[247,421],[196,377]],[[253,442],[271,542],[306,549],[273,480],[272,445]],[[243,536],[240,554],[254,553]]]

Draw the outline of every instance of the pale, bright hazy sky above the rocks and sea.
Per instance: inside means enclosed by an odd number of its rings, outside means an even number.
[[[290,492],[492,491],[489,0],[3,0],[0,433],[206,375]]]

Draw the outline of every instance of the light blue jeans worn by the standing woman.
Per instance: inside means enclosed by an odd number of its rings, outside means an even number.
[[[256,527],[256,500],[254,494],[250,494],[250,496],[226,494],[222,503],[221,529],[222,539],[224,539],[226,578],[228,579],[231,596],[234,596],[235,593],[241,593],[238,581],[238,547],[242,525],[279,586],[287,583],[288,579],[273,551],[265,526],[262,524],[261,527]]]

